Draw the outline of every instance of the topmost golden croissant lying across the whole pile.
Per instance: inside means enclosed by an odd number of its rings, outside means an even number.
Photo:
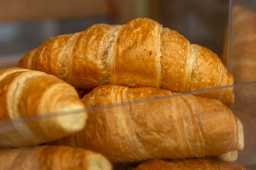
[[[234,82],[215,53],[149,18],[124,25],[94,24],[79,33],[50,38],[17,66],[56,75],[77,89],[117,84],[182,93]],[[197,95],[227,106],[234,102],[231,87]]]

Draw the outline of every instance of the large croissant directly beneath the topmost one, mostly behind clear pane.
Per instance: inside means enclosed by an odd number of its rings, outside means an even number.
[[[243,150],[243,125],[216,99],[106,84],[85,95],[83,102],[95,109],[88,113],[85,128],[54,144],[96,150],[112,162]]]

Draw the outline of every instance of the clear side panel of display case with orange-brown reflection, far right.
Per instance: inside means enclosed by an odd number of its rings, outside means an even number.
[[[232,0],[229,18],[229,46],[227,66],[234,76],[235,84],[244,84],[235,88],[236,102],[231,107],[234,113],[244,119],[245,150],[238,162],[255,169],[256,133],[255,133],[255,70],[256,70],[256,8],[253,1]],[[246,137],[247,136],[247,137]],[[246,144],[247,143],[247,144]]]

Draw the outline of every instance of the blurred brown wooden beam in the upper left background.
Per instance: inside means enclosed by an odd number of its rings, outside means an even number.
[[[0,21],[72,18],[111,13],[112,0],[1,0]]]

